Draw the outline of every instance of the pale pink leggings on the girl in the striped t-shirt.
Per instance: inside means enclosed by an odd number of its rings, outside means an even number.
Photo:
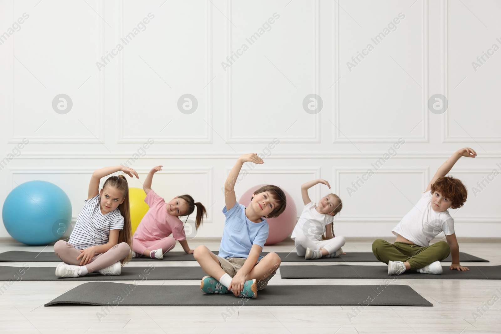
[[[59,240],[54,245],[54,252],[60,259],[63,260],[63,262],[80,265],[80,260],[77,260],[77,257],[82,253],[71,243]],[[91,262],[87,263],[85,266],[87,267],[87,271],[91,273],[123,260],[127,257],[127,255],[129,255],[129,253],[129,245],[126,242],[121,242],[111,247],[107,252],[95,255]]]

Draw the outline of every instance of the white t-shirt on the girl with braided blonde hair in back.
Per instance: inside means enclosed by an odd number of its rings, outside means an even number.
[[[314,238],[311,240],[322,240],[322,234],[325,233],[325,226],[334,221],[334,216],[320,213],[316,210],[317,204],[310,202],[305,205],[298,223],[292,231],[291,238],[295,238],[299,233],[309,234]]]

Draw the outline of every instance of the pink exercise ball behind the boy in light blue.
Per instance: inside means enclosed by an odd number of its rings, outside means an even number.
[[[245,191],[242,197],[240,197],[238,204],[243,204],[247,207],[254,192],[263,186],[266,186],[266,184],[254,186]],[[268,226],[270,227],[270,233],[268,234],[268,239],[266,239],[265,245],[274,245],[284,240],[289,236],[289,234],[291,234],[294,226],[296,226],[296,204],[294,203],[291,195],[289,195],[289,193],[284,189],[282,190],[287,198],[287,206],[280,216],[268,219],[265,218],[268,221]]]

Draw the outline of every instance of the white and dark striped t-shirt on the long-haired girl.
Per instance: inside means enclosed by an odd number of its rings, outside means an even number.
[[[120,214],[120,210],[116,208],[107,214],[102,214],[100,201],[99,194],[84,201],[84,207],[78,215],[69,240],[75,248],[86,249],[104,245],[110,238],[110,230],[123,229],[124,217]]]

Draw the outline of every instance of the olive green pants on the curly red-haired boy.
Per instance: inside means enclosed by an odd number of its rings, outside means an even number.
[[[377,239],[372,243],[372,252],[381,262],[409,262],[412,270],[420,269],[432,262],[441,261],[450,254],[450,247],[445,241],[429,246],[418,246],[405,242],[391,243]]]

